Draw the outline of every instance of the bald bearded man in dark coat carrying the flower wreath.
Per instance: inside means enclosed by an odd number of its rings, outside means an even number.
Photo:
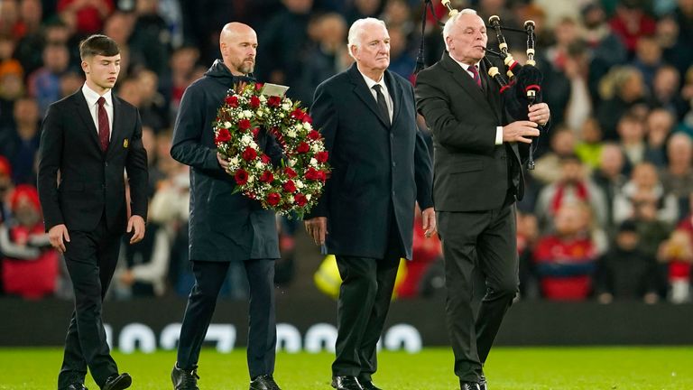
[[[195,274],[180,329],[178,360],[171,372],[174,390],[198,390],[198,359],[230,262],[243,262],[250,285],[248,369],[251,390],[277,390],[274,382],[274,260],[279,238],[272,210],[234,193],[228,162],[217,153],[212,123],[228,88],[253,72],[257,36],[243,23],[227,23],[216,60],[185,91],[180,102],[171,156],[190,166],[189,258]],[[261,132],[257,144],[278,163],[282,149]]]

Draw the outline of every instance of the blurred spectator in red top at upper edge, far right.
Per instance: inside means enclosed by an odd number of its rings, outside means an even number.
[[[643,35],[652,35],[657,30],[657,23],[642,12],[640,3],[639,0],[622,0],[616,7],[616,14],[609,21],[611,29],[621,37],[625,49],[631,54]]]

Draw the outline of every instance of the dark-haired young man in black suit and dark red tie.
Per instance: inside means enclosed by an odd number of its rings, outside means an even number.
[[[53,103],[42,125],[39,194],[51,245],[65,257],[75,311],[65,339],[60,390],[85,390],[87,367],[103,390],[125,389],[106,344],[101,306],[125,231],[144,237],[147,153],[137,109],[112,93],[120,51],[105,35],[79,45],[87,78],[76,93]],[[130,188],[130,217],[125,179]]]

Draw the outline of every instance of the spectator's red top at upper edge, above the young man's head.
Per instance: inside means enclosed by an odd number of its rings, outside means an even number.
[[[113,9],[113,0],[58,0],[57,6],[58,14],[75,20],[80,35],[100,32]]]

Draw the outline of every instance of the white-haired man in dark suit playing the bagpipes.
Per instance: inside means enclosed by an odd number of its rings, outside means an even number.
[[[463,390],[485,389],[483,366],[518,288],[515,200],[522,199],[526,144],[550,111],[533,105],[529,120],[504,114],[499,86],[480,63],[484,21],[471,9],[443,29],[447,51],[417,78],[419,112],[433,133],[433,199],[445,257],[448,333]],[[518,147],[524,143],[524,147]],[[522,158],[521,158],[522,152]],[[485,275],[475,321],[472,272]]]

